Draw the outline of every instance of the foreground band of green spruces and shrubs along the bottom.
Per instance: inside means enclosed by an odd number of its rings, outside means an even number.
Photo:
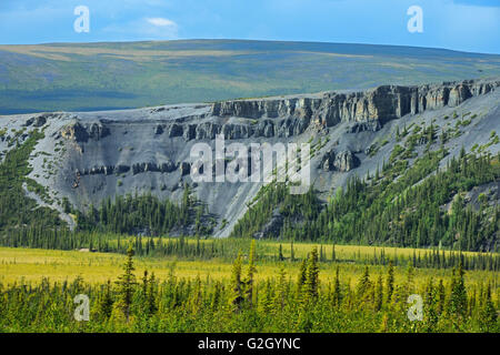
[[[392,261],[361,266],[353,281],[337,264],[333,277],[320,280],[316,247],[297,275],[289,263],[257,280],[266,263],[252,241],[229,278],[178,277],[172,267],[160,280],[136,270],[130,245],[121,274],[106,283],[0,284],[0,332],[499,332],[498,280],[466,283],[461,264],[417,283],[412,265]],[[87,321],[74,318],[77,295],[89,297]]]

